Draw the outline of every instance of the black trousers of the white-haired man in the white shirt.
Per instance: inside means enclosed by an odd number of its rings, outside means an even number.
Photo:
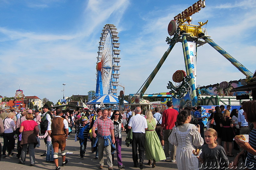
[[[139,148],[138,148],[139,146]],[[138,152],[140,162],[143,163],[145,159],[145,133],[132,132],[132,160],[134,166],[138,166]]]

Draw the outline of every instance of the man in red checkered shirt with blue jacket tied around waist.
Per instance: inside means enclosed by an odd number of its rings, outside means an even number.
[[[97,134],[95,133],[95,129],[97,130]],[[111,135],[111,137],[110,137]],[[111,155],[111,144],[115,144],[115,135],[114,135],[114,124],[111,119],[108,118],[108,109],[104,109],[102,112],[102,116],[97,119],[92,127],[92,137],[98,137],[98,153],[99,153],[99,161],[100,161],[100,169],[103,169],[104,158],[103,151],[105,147],[105,152],[107,154],[107,164],[108,170],[113,170],[113,162]],[[97,140],[97,139],[96,139]],[[107,144],[105,142],[107,140]],[[92,147],[94,147],[96,143]]]

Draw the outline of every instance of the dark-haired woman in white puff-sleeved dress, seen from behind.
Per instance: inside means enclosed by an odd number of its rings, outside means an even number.
[[[190,124],[190,120],[190,111],[182,110],[177,116],[176,127],[172,128],[169,137],[169,142],[177,146],[176,161],[179,170],[198,169],[198,160],[192,156],[192,151],[204,144],[199,126]]]

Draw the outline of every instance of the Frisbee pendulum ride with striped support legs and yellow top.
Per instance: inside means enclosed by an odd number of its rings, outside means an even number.
[[[208,36],[207,30],[205,28],[202,28],[202,26],[207,24],[208,20],[204,23],[198,22],[198,25],[190,24],[192,21],[191,16],[196,12],[199,12],[204,7],[205,0],[199,0],[195,4],[189,6],[187,9],[182,11],[180,14],[175,16],[174,19],[170,21],[168,25],[168,34],[171,37],[166,38],[166,42],[170,46],[160,59],[159,63],[156,65],[156,68],[152,71],[152,73],[146,79],[144,84],[140,87],[140,92],[138,91],[136,93],[137,96],[141,96],[144,98],[172,98],[173,96],[176,96],[176,98],[181,98],[182,96],[184,96],[185,93],[189,92],[192,106],[195,106],[197,103],[196,52],[197,47],[200,47],[206,43],[208,43],[210,46],[216,49],[246,77],[253,76],[252,72],[246,69],[234,57],[229,55],[224,49],[222,49],[220,46],[218,46],[215,42],[212,41],[212,39],[210,38],[211,36]],[[172,48],[177,42],[182,43],[186,71],[176,71],[173,74],[172,80],[176,83],[180,83],[180,85],[174,86],[172,85],[172,82],[169,81],[167,89],[171,89],[170,94],[144,94],[148,86],[152,82],[153,78],[156,76],[158,70],[161,68],[165,59],[170,54]],[[131,95],[130,99],[133,96],[135,96],[135,94]]]

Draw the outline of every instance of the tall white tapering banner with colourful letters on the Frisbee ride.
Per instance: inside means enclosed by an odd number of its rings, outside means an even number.
[[[196,42],[187,41],[187,43],[188,43],[188,51],[189,51],[191,68],[192,68],[192,72],[195,80],[194,81],[195,87],[196,87]]]

